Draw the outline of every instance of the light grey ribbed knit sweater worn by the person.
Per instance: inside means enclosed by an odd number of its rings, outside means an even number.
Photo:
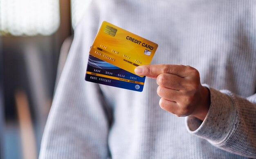
[[[202,122],[135,92],[84,80],[103,20],[159,45],[151,64],[191,65],[210,89]],[[40,159],[256,158],[255,0],[93,0],[76,26]]]

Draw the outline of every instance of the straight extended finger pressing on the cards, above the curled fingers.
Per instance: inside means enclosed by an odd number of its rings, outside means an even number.
[[[140,76],[158,76],[169,73],[180,77],[186,77],[187,67],[185,65],[141,65],[135,68],[134,72]]]

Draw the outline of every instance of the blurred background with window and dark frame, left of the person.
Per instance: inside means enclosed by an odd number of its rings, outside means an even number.
[[[90,0],[0,0],[0,159],[36,159],[74,27]]]

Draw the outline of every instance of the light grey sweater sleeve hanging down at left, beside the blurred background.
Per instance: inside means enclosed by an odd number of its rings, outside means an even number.
[[[99,85],[84,80],[98,20],[97,15],[88,13],[75,29],[45,126],[40,159],[108,158],[110,120],[106,109],[110,107],[106,105]],[[88,21],[90,24],[86,23]]]

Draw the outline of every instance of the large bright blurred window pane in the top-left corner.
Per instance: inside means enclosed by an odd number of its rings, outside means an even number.
[[[59,25],[59,0],[0,0],[0,35],[51,35]]]

